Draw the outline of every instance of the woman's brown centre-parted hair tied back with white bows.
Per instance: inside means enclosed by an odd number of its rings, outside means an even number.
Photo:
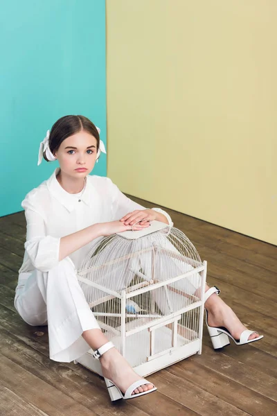
[[[51,128],[49,136],[49,148],[51,153],[54,154],[67,137],[75,135],[75,133],[82,130],[88,132],[91,136],[96,138],[98,150],[100,137],[98,130],[92,121],[84,116],[64,116],[58,119]],[[47,162],[49,162],[45,152],[43,157]]]

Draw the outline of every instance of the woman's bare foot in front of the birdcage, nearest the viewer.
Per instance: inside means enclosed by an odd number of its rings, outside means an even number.
[[[117,385],[125,394],[127,388],[135,381],[141,380],[141,376],[136,374],[132,367],[116,348],[111,348],[100,357],[103,376]],[[154,387],[152,384],[143,384],[136,388],[132,395],[146,392]]]

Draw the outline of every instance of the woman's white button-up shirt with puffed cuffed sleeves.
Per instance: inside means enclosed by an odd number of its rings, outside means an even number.
[[[136,209],[145,209],[120,192],[109,177],[88,175],[82,193],[68,193],[57,182],[58,170],[30,191],[21,204],[27,222],[24,261],[19,270],[21,284],[33,270],[47,272],[57,265],[63,236],[95,223],[120,220]],[[165,211],[153,209],[165,215],[172,226]],[[87,244],[70,254],[75,268],[80,267],[89,248]]]

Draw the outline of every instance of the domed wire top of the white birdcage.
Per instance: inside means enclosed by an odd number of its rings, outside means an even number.
[[[146,231],[129,231],[97,239],[78,275],[84,277],[81,286],[91,303],[100,295],[95,290],[97,284],[120,294],[123,290],[135,291],[139,286],[169,280],[201,265],[195,246],[183,232],[153,221]],[[196,277],[188,279],[188,294],[192,295],[199,286]],[[88,286],[88,280],[94,285]]]

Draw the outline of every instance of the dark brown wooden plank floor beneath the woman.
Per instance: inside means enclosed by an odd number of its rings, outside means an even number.
[[[0,415],[277,415],[277,247],[167,211],[208,261],[208,284],[219,286],[242,322],[265,338],[215,352],[205,328],[202,355],[150,376],[158,392],[111,404],[99,376],[49,360],[47,328],[28,326],[15,311],[25,219],[12,214],[0,218]]]

